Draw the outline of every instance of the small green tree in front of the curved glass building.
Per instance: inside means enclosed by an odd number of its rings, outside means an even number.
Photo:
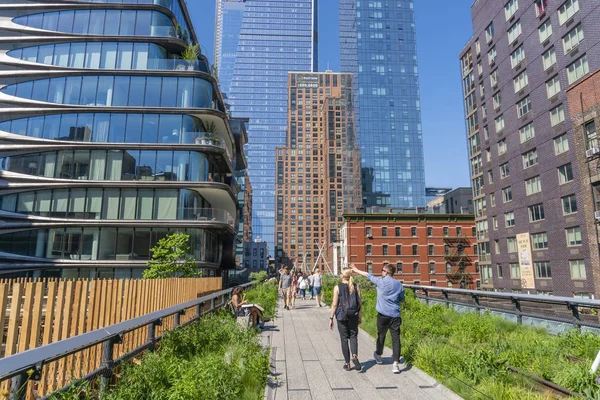
[[[150,251],[148,269],[144,279],[193,278],[201,276],[196,268],[196,260],[188,255],[190,236],[187,233],[173,233],[160,239]]]

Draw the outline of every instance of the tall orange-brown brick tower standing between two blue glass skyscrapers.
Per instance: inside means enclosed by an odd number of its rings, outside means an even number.
[[[277,148],[276,264],[325,268],[342,215],[362,200],[352,74],[290,73],[288,84],[287,146]]]

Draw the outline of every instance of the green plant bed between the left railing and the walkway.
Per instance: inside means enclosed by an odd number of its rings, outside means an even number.
[[[168,332],[153,353],[121,367],[120,379],[103,400],[262,399],[269,352],[254,329],[243,329],[222,311]],[[94,385],[95,386],[95,385]],[[98,399],[89,383],[51,399]]]

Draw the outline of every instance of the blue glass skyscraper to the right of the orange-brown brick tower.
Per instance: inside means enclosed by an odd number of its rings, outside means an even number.
[[[425,205],[412,0],[340,0],[342,72],[354,73],[363,205]]]

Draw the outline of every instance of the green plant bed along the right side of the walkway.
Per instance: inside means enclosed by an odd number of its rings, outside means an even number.
[[[361,328],[377,333],[376,292],[362,277]],[[339,279],[323,280],[326,301]],[[507,365],[535,374],[586,398],[600,399],[600,386],[589,368],[600,349],[600,336],[576,330],[555,336],[542,328],[518,325],[483,313],[461,313],[421,303],[411,290],[402,305],[402,355],[467,399],[547,399],[537,384]],[[388,347],[391,340],[388,335]],[[571,361],[573,357],[581,361]]]

